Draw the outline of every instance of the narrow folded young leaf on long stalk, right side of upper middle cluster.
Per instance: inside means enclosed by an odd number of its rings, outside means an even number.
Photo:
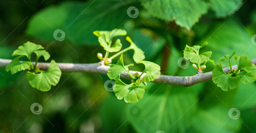
[[[134,50],[133,60],[135,62],[144,60],[145,59],[144,52],[140,48],[138,48],[134,42],[132,42],[132,40],[129,36],[126,37],[126,40],[131,43],[129,48]]]

